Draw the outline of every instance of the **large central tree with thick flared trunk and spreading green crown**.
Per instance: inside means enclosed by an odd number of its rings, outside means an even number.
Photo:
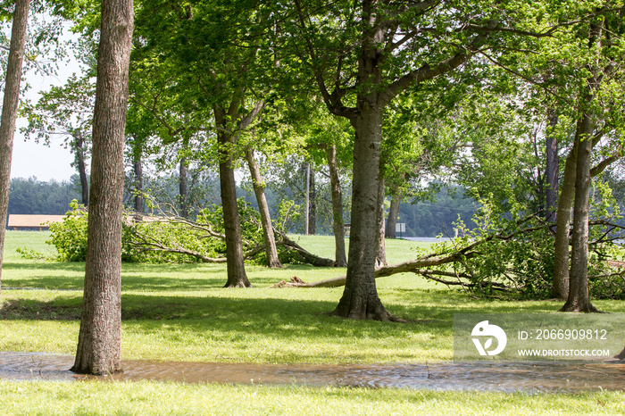
[[[374,279],[384,109],[407,88],[449,74],[474,54],[541,36],[530,29],[542,12],[500,3],[362,0],[320,7],[297,0],[294,13],[287,40],[299,41],[293,46],[304,62],[298,69],[315,79],[329,112],[349,120],[355,133],[347,283],[331,313],[396,320]]]

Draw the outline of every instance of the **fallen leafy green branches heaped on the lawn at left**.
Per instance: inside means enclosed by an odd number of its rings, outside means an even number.
[[[246,259],[266,263],[260,215],[243,198],[237,201],[241,215],[243,251]],[[84,262],[87,254],[88,212],[72,201],[63,222],[50,224],[48,244],[58,252],[57,260]],[[121,240],[124,262],[226,262],[226,243],[221,205],[200,211],[196,220],[175,217],[125,217]],[[332,266],[334,261],[306,251],[285,234],[275,231],[280,261]]]

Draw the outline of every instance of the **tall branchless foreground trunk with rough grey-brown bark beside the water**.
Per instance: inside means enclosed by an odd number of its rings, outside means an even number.
[[[121,371],[121,212],[131,0],[103,0],[98,46],[85,291],[74,372]]]

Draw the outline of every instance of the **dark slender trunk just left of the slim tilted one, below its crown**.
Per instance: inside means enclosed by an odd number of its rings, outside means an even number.
[[[237,183],[235,182],[232,155],[229,154],[231,137],[227,133],[217,135],[220,144],[220,185],[221,206],[223,207],[223,225],[226,234],[226,258],[228,259],[228,281],[225,287],[252,287],[247,279],[241,221],[237,207]]]

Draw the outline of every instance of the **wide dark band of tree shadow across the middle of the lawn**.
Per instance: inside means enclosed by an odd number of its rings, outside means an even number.
[[[205,330],[249,331],[250,329],[279,330],[282,327],[312,328],[332,323],[335,329],[354,327],[397,329],[439,329],[451,331],[454,313],[504,313],[504,312],[549,312],[544,304],[527,304],[520,310],[518,303],[500,304],[480,301],[467,305],[466,296],[445,292],[421,293],[420,304],[404,304],[405,299],[389,299],[387,307],[397,316],[408,320],[406,324],[392,324],[377,321],[342,320],[329,317],[337,301],[288,299],[270,297],[267,292],[258,297],[237,298],[237,290],[224,289],[232,296],[166,296],[166,295],[121,295],[121,319],[133,321],[139,326],[162,325],[167,321],[179,327]],[[277,295],[285,295],[284,289],[276,289]],[[293,291],[302,289],[289,289]],[[316,290],[316,289],[304,289]],[[241,292],[246,293],[246,292]],[[246,293],[247,295],[247,293]],[[414,295],[406,293],[404,295]],[[0,320],[79,320],[82,296],[59,295],[51,301],[12,298],[0,305]]]

